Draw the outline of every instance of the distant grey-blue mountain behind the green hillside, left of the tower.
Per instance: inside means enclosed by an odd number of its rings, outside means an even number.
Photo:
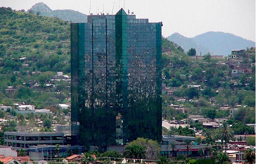
[[[87,22],[87,15],[80,13],[78,11],[65,9],[65,10],[52,10],[46,4],[40,2],[33,5],[30,9],[30,12],[34,12],[36,14],[42,16],[50,16],[50,17],[59,17],[65,21],[71,22]]]

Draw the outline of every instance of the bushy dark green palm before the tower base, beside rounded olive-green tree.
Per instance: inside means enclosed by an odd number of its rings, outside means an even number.
[[[124,150],[124,156],[130,159],[144,159],[145,153],[142,145],[127,145]]]

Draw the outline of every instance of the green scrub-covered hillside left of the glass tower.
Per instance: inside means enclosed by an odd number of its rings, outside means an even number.
[[[45,108],[66,101],[68,82],[56,82],[58,88],[54,89],[45,84],[57,71],[70,75],[69,28],[69,22],[58,18],[0,8],[1,104],[12,105],[15,100],[35,102],[36,108]],[[39,86],[33,87],[35,84]],[[7,86],[16,92],[5,93]],[[54,93],[58,90],[61,93]]]

